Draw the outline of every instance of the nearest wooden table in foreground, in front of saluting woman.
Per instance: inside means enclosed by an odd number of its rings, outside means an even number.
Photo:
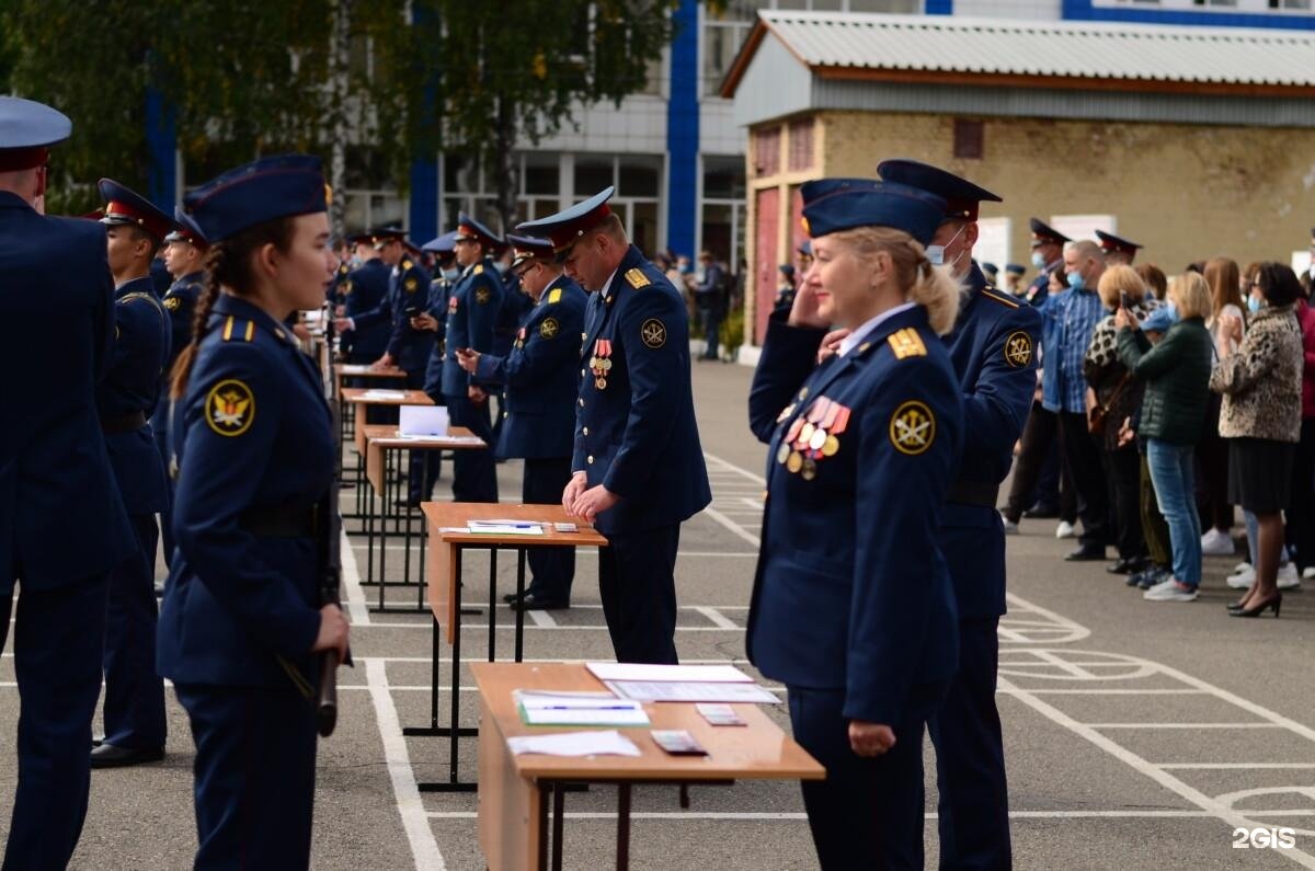
[[[763,713],[760,705],[732,705],[748,725],[713,726],[693,704],[646,704],[650,726],[621,728],[640,757],[513,755],[515,735],[579,732],[579,726],[527,726],[512,699],[514,689],[606,691],[580,663],[473,663],[480,691],[479,838],[492,871],[548,866],[548,799],[552,799],[552,867],[562,867],[567,784],[617,785],[617,867],[630,862],[630,791],[634,784],[731,783],[735,780],[821,780],[823,768]],[[685,729],[706,757],[672,757],[650,729]]]

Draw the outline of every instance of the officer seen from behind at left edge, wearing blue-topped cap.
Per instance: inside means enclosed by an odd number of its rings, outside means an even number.
[[[36,208],[50,147],[71,130],[47,105],[0,96],[0,366],[13,374],[0,437],[0,649],[22,589],[18,734],[5,741],[18,757],[5,846],[16,868],[63,868],[78,845],[105,591],[134,550],[96,414],[114,345],[105,230]]]

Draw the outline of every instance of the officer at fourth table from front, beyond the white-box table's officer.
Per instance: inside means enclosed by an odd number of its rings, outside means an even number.
[[[489,447],[459,450],[452,457],[452,499],[459,503],[497,501],[493,418],[489,411],[489,396],[496,392],[497,384],[463,370],[456,351],[471,349],[487,354],[493,349],[493,329],[502,305],[502,282],[489,253],[500,243],[496,233],[469,214],[460,213],[452,245],[462,278],[447,300],[443,371],[438,387],[452,425],[466,426]],[[427,387],[433,391],[434,384]]]

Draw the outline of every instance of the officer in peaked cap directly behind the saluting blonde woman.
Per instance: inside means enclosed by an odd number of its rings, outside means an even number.
[[[1009,787],[995,709],[1005,530],[995,501],[1032,405],[1041,318],[997,291],[973,264],[981,203],[1001,197],[918,161],[882,161],[877,174],[945,200],[928,255],[968,288],[955,329],[944,338],[964,396],[964,429],[972,433],[940,525],[940,550],[959,607],[959,671],[928,725],[940,792],[940,867],[1007,868]]]

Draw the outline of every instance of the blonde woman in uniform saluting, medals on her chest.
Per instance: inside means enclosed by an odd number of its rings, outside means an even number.
[[[826,766],[803,784],[822,867],[920,868],[923,726],[959,645],[936,542],[963,436],[940,341],[960,289],[923,250],[940,197],[861,179],[802,193],[814,263],[750,396],[771,451],[748,653]],[[815,366],[830,326],[852,333]]]

